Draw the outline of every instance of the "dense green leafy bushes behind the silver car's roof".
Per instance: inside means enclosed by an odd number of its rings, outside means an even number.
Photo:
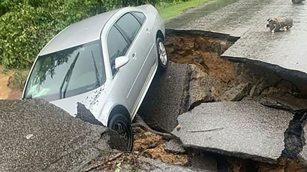
[[[26,68],[58,32],[84,18],[123,6],[185,0],[1,0],[0,65]]]

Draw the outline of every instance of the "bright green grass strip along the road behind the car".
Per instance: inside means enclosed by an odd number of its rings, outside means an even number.
[[[163,20],[167,20],[181,14],[186,9],[195,7],[201,3],[208,1],[209,0],[188,0],[186,2],[179,3],[161,3],[157,5],[157,9]]]

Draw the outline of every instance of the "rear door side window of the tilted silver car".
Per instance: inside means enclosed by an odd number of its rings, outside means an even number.
[[[123,32],[125,32],[128,39],[131,40],[131,42],[134,40],[136,34],[141,28],[141,24],[138,22],[138,20],[130,13],[126,13],[123,15],[116,24],[122,29]]]

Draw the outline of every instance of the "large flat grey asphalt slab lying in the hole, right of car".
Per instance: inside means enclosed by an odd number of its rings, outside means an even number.
[[[184,147],[277,163],[293,114],[254,101],[202,103],[178,117]]]

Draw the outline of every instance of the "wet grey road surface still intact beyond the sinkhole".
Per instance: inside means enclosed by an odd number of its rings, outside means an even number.
[[[289,16],[293,28],[271,33],[266,20]],[[290,0],[219,0],[190,9],[166,27],[222,32],[240,39],[222,56],[258,60],[307,73],[307,4]]]

